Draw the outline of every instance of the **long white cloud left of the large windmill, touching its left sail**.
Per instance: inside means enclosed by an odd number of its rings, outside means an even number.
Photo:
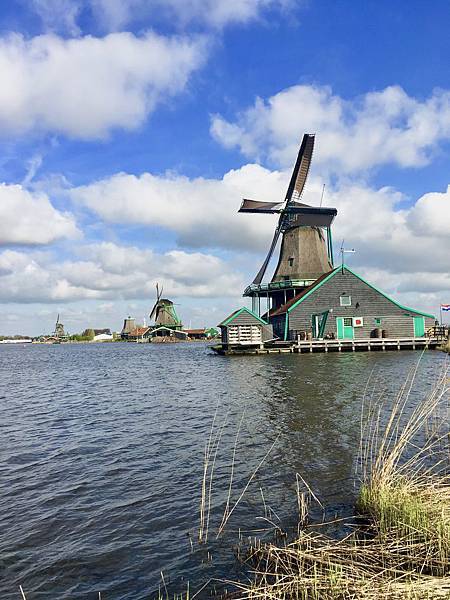
[[[74,188],[71,197],[110,223],[170,229],[182,246],[263,250],[274,228],[273,217],[237,211],[244,196],[281,199],[287,183],[286,173],[259,165],[229,171],[223,179],[120,173]]]

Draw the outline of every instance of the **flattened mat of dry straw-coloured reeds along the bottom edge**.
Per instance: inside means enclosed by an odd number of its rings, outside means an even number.
[[[397,550],[397,548],[395,548]],[[450,598],[450,577],[405,571],[389,544],[356,536],[332,540],[304,533],[292,544],[253,547],[251,584],[239,598],[258,600],[381,600]]]

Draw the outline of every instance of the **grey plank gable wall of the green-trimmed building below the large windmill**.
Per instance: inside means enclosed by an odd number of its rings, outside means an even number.
[[[340,306],[341,294],[351,296],[351,306]],[[356,306],[358,305],[358,306]],[[352,273],[336,273],[329,281],[315,290],[289,313],[289,338],[295,338],[300,331],[312,330],[312,315],[333,309],[328,315],[325,334],[337,337],[337,317],[363,317],[364,326],[354,328],[354,339],[368,338],[375,328],[386,331],[387,337],[413,337],[413,317],[418,316],[398,307],[382,294],[355,277]],[[381,319],[381,324],[375,319]],[[425,317],[425,330],[434,320]],[[274,332],[284,336],[284,315],[273,320]]]

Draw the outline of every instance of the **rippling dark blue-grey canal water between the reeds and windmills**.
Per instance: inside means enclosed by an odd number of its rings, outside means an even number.
[[[20,599],[19,585],[27,600],[220,588],[242,575],[239,539],[295,528],[297,473],[327,517],[350,515],[367,380],[392,397],[419,357],[219,357],[203,343],[0,347],[0,598]],[[411,404],[444,360],[423,355]],[[199,545],[212,425],[219,444]],[[271,447],[216,539],[233,449],[230,508]]]

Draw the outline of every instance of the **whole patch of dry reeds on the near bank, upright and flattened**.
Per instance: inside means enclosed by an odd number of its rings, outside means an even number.
[[[380,397],[365,401],[357,500],[364,526],[341,540],[310,527],[291,544],[257,543],[239,598],[450,599],[448,370],[411,407],[416,370],[389,411]]]

